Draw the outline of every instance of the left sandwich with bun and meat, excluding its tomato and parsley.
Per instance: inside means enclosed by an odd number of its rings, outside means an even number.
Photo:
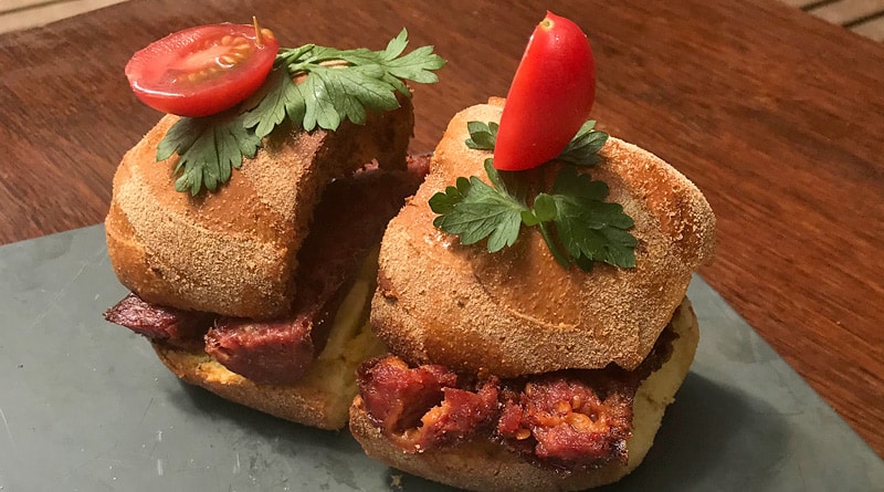
[[[173,188],[156,161],[164,117],[114,178],[107,248],[131,294],[105,317],[145,335],[183,380],[277,417],[346,425],[355,369],[381,350],[366,328],[377,247],[417,190],[410,100],[335,132],[276,128],[228,184]]]

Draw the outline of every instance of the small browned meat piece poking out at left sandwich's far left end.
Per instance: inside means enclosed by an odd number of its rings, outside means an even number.
[[[193,348],[202,344],[202,335],[212,325],[214,315],[158,306],[130,293],[107,310],[104,318],[151,341]]]

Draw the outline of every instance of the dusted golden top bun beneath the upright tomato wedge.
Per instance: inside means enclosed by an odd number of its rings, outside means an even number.
[[[372,325],[412,364],[487,369],[502,377],[613,362],[632,369],[649,354],[696,269],[715,249],[715,217],[699,192],[662,159],[610,138],[590,169],[609,201],[634,220],[636,266],[564,271],[535,228],[488,254],[433,226],[430,197],[460,176],[486,180],[491,156],[464,145],[467,122],[498,122],[503,100],[454,116],[430,176],[390,222],[381,253]]]

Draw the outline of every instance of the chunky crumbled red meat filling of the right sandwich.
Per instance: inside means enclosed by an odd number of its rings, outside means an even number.
[[[368,417],[406,452],[484,439],[539,467],[592,470],[628,462],[635,394],[677,337],[670,322],[633,370],[610,364],[502,379],[387,355],[364,364],[357,381]]]

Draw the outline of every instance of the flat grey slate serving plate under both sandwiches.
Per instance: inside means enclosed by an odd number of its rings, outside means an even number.
[[[346,431],[181,384],[101,314],[126,291],[101,226],[0,247],[0,491],[443,491]],[[884,462],[702,279],[692,371],[611,491],[883,491]]]

